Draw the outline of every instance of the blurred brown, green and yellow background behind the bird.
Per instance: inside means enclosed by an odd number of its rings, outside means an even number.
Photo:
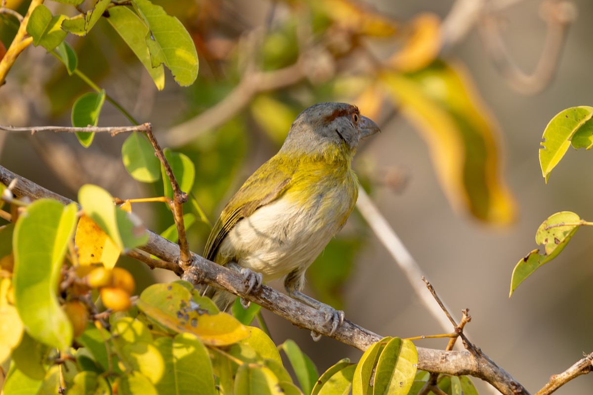
[[[590,153],[569,150],[547,185],[537,155],[555,114],[593,103],[593,3],[154,2],[192,35],[200,57],[192,86],[180,87],[167,74],[158,91],[106,21],[68,41],[82,72],[137,120],[151,122],[162,146],[193,160],[192,192],[212,223],[278,150],[300,111],[320,101],[352,102],[382,129],[361,144],[356,172],[455,318],[470,309],[470,341],[532,393],[593,351],[592,230],[579,231],[508,297],[512,269],[537,248],[543,220],[563,210],[593,219]],[[7,5],[24,13],[28,2]],[[66,12],[47,5],[54,14]],[[0,20],[6,47],[16,28]],[[72,103],[88,91],[55,57],[30,47],[0,88],[0,124],[69,126]],[[98,124],[129,123],[106,104]],[[97,135],[85,149],[68,134],[2,132],[0,165],[74,199],[86,183],[120,198],[162,194],[162,184],[140,184],[127,174],[124,140]],[[161,205],[133,208],[155,232],[173,223]],[[209,229],[204,221],[193,224],[192,251],[202,252]],[[121,264],[141,287],[174,279],[138,262]],[[380,335],[443,332],[357,211],[310,268],[305,292]],[[320,372],[361,355],[332,339],[314,343],[273,314],[264,317],[276,343],[294,339]],[[558,393],[592,391],[593,378],[584,376]]]

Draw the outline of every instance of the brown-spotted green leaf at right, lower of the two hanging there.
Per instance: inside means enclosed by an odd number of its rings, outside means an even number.
[[[534,249],[517,263],[511,276],[509,297],[537,268],[556,258],[582,224],[581,218],[571,211],[560,211],[548,217],[535,233],[535,242],[544,246],[544,253]]]

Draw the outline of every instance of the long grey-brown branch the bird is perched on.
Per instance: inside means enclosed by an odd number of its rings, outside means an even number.
[[[0,166],[0,182],[2,184],[8,185],[14,179],[17,179],[17,182],[14,183],[12,192],[18,197],[53,198],[63,204],[72,203],[68,198],[47,190]],[[162,259],[164,263],[160,267],[166,268],[167,264],[165,262],[171,264],[172,262],[178,262],[179,246],[177,244],[154,232],[147,232],[149,235],[148,242],[140,248],[142,251]],[[132,253],[132,256],[134,255]],[[136,258],[136,256],[134,257]],[[139,260],[149,266],[156,265],[156,262],[146,262],[145,256],[141,258]],[[186,269],[181,276],[184,280],[188,280],[193,284],[208,284],[237,294],[283,317],[297,327],[329,336],[331,325],[326,323],[325,314],[313,309],[313,307],[300,303],[266,285],[262,285],[258,291],[246,294],[246,284],[240,274],[208,261],[208,259],[195,253],[192,253],[192,258],[192,266]],[[178,271],[176,272],[178,273]],[[380,341],[383,336],[356,325],[350,320],[345,320],[343,325],[340,325],[330,337],[354,348],[365,350],[372,343]],[[452,375],[472,375],[492,384],[504,395],[530,395],[511,375],[498,367],[495,362],[474,346],[469,347],[469,351],[445,351],[417,347],[417,352],[418,368],[421,370]]]

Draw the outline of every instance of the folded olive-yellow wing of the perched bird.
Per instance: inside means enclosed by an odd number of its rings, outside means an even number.
[[[222,210],[206,242],[204,258],[211,261],[215,258],[222,240],[238,221],[249,217],[257,208],[282,195],[291,183],[295,170],[296,166],[281,163],[278,156],[274,156],[257,169]],[[264,191],[267,193],[264,194]]]

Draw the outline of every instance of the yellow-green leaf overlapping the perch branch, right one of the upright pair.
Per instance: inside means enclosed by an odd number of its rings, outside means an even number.
[[[412,387],[417,363],[418,354],[412,341],[391,339],[377,362],[373,394],[406,395]]]

